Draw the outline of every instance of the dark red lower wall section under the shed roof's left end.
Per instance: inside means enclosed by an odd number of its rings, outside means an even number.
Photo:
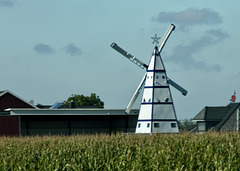
[[[0,136],[19,136],[19,116],[0,116]]]

